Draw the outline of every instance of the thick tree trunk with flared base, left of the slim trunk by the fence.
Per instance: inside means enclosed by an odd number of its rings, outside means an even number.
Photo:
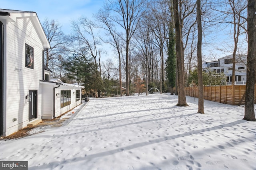
[[[184,84],[184,53],[182,51],[182,37],[178,12],[178,0],[173,0],[174,22],[176,37],[176,55],[178,71],[178,104],[176,106],[188,106],[186,103],[185,84]],[[182,64],[183,62],[183,64]]]

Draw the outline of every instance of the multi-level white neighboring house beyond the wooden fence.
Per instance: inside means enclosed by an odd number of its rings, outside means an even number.
[[[236,55],[236,67],[235,67],[235,84],[246,84],[246,61],[247,56]],[[227,77],[227,85],[231,85],[232,82],[232,64],[233,55],[228,55],[218,59],[218,61],[208,61],[202,64],[203,70],[213,70],[216,73],[224,73]]]

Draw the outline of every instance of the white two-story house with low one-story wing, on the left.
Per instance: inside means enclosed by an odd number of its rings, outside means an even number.
[[[81,103],[75,90],[82,86],[47,81],[51,71],[44,66],[44,49],[49,48],[35,12],[0,9],[0,136]]]

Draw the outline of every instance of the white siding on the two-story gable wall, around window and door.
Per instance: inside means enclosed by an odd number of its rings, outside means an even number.
[[[28,123],[28,102],[25,96],[29,90],[38,90],[37,117],[42,114],[42,93],[39,80],[42,80],[42,43],[29,18],[8,22],[6,38],[6,124],[9,135]],[[25,67],[25,43],[34,48],[34,69]],[[12,121],[17,118],[17,121]]]

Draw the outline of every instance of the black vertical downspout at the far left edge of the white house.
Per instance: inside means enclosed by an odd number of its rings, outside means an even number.
[[[2,15],[2,14],[1,14]],[[0,21],[0,137],[4,133],[4,24]]]

